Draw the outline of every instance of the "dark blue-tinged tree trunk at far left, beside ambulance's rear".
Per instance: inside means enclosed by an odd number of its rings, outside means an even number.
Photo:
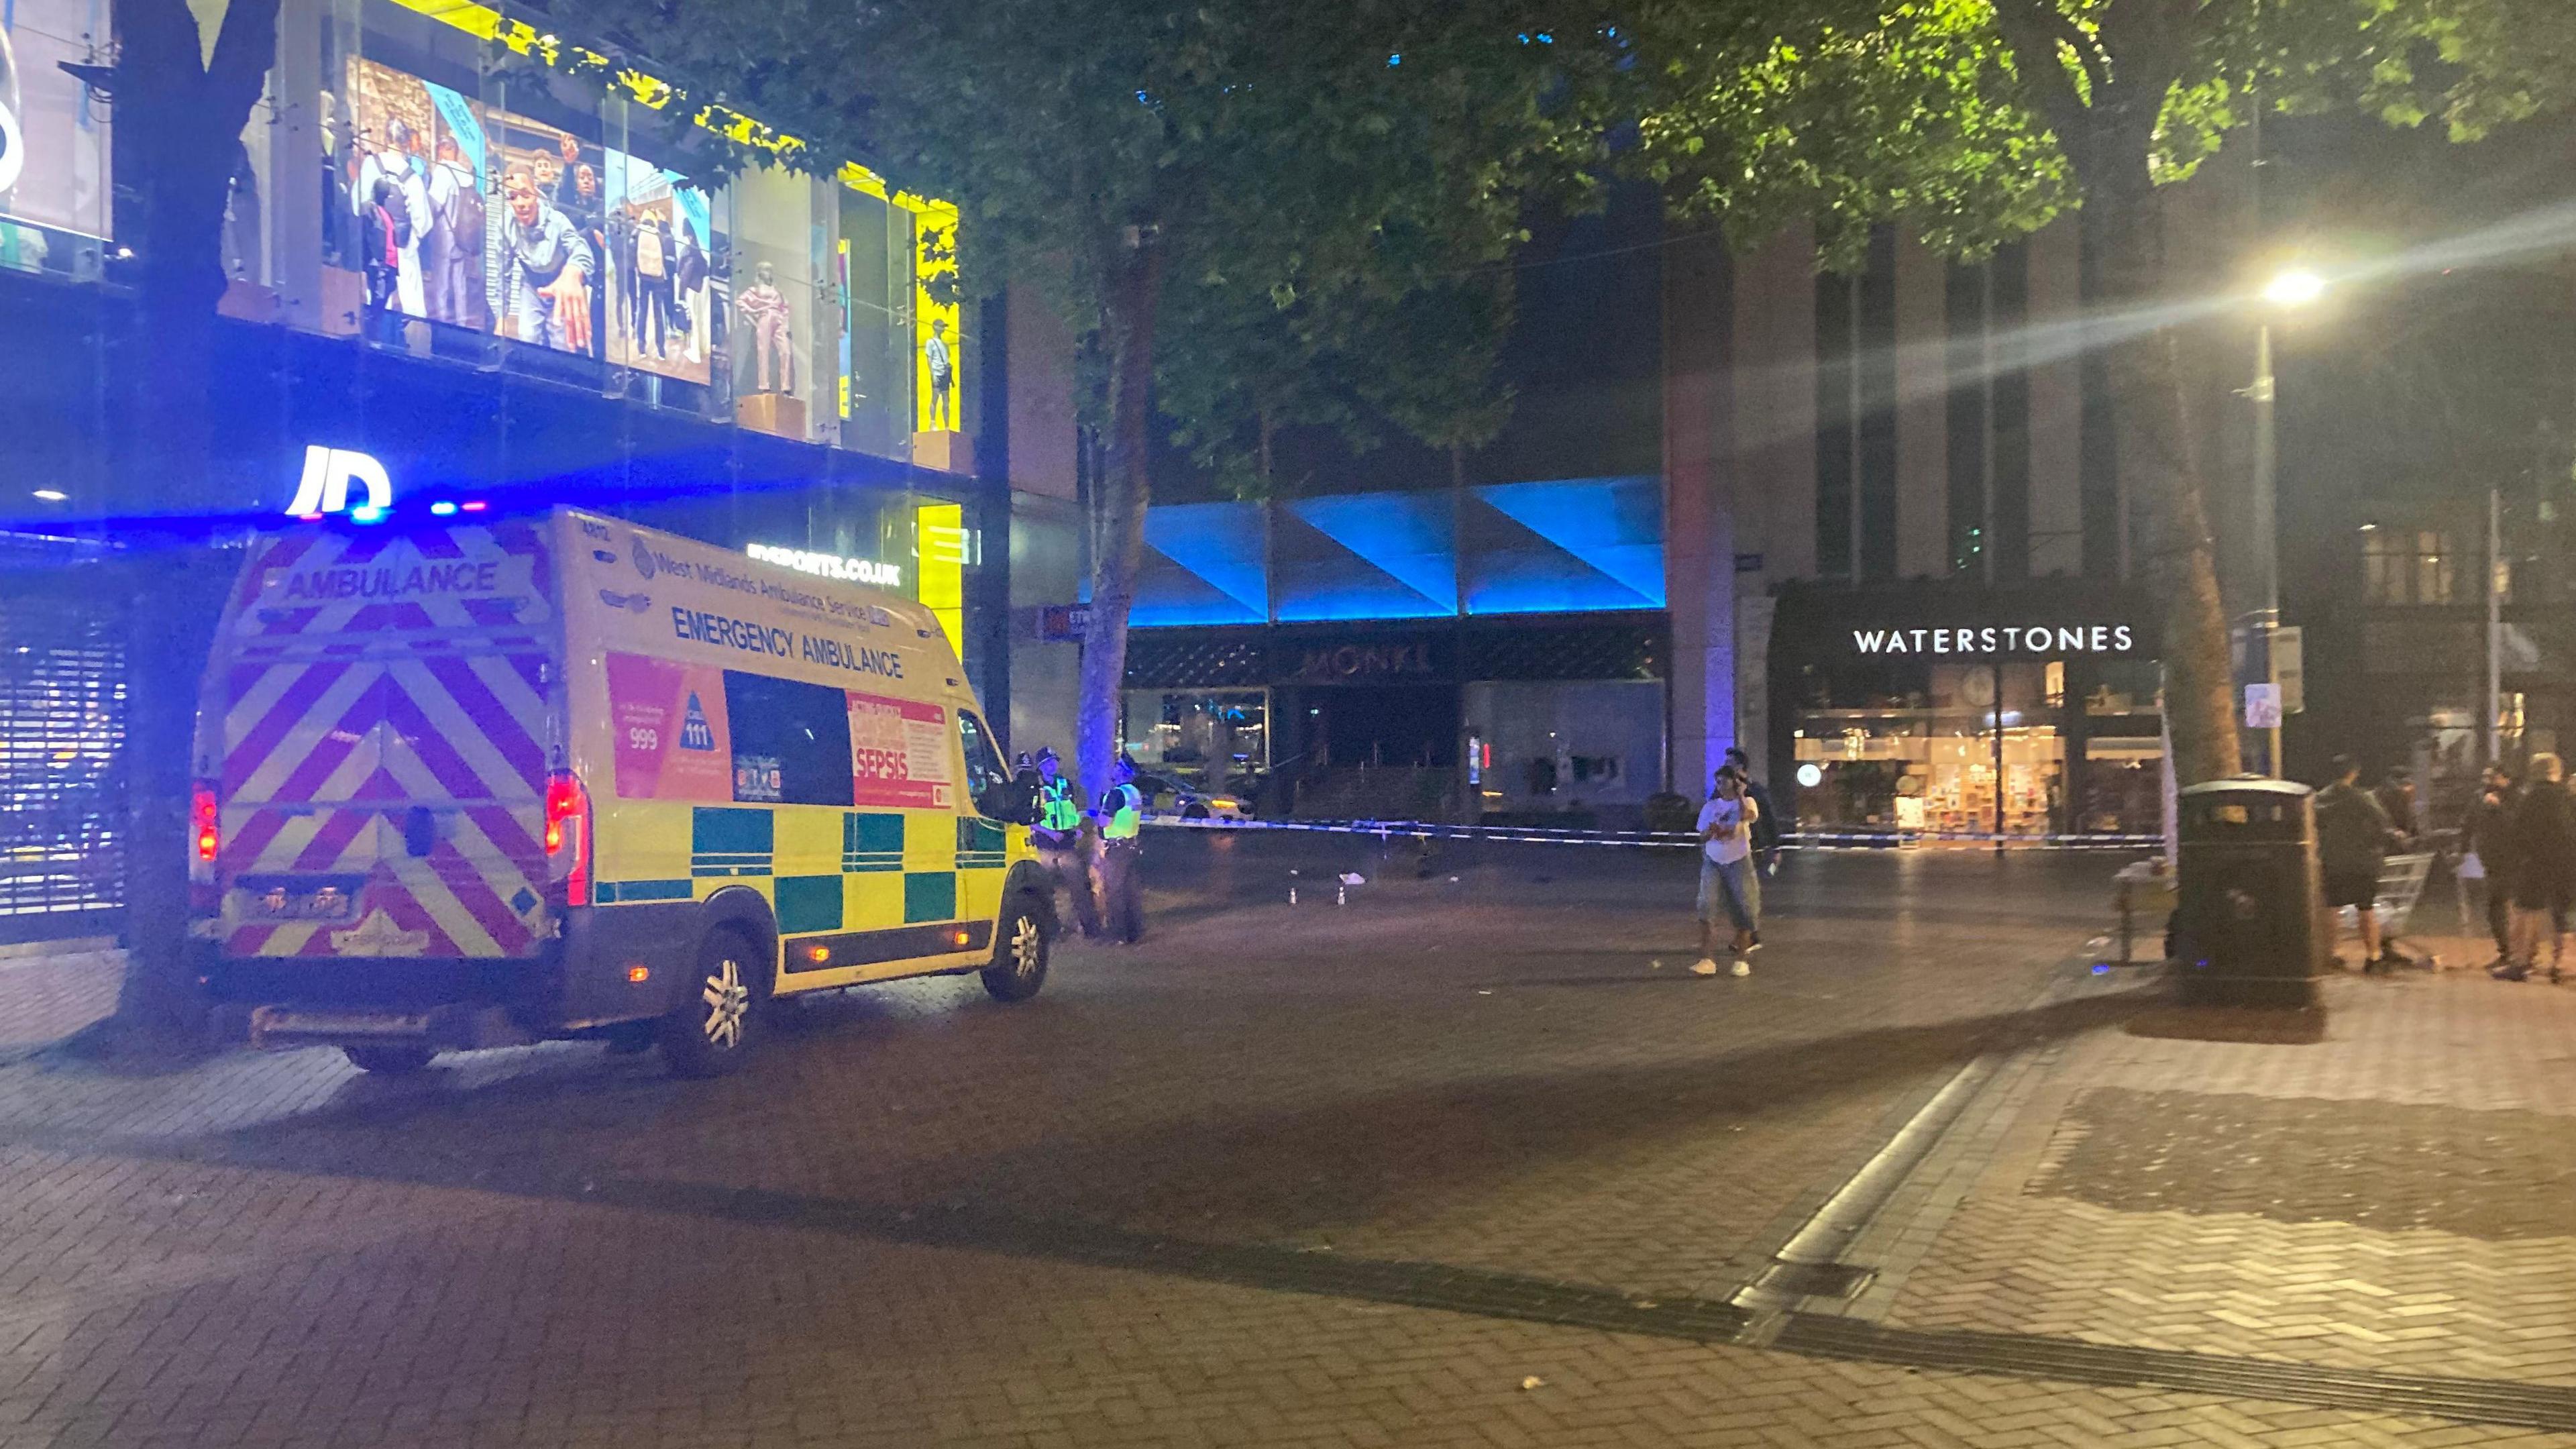
[[[211,64],[185,0],[116,8],[118,178],[137,204],[121,235],[137,253],[131,333],[113,387],[126,433],[116,467],[118,534],[137,562],[126,647],[126,982],[118,1018],[188,1036],[201,1013],[188,967],[188,753],[222,559],[204,536],[160,531],[157,513],[209,500],[216,304],[224,299],[224,204],[263,77],[276,59],[278,0],[234,0]]]

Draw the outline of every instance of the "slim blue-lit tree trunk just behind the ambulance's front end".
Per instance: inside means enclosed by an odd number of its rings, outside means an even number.
[[[1126,681],[1126,619],[1144,567],[1144,508],[1151,498],[1149,449],[1154,418],[1154,312],[1162,304],[1162,250],[1146,237],[1126,248],[1105,286],[1108,333],[1108,459],[1092,495],[1092,614],[1082,634],[1082,696],[1074,706],[1074,755],[1092,794],[1110,789],[1118,763],[1118,701]],[[1100,856],[1092,853],[1092,890]]]

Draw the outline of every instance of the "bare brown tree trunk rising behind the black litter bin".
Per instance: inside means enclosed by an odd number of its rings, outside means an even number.
[[[2164,302],[2164,206],[2146,168],[2146,147],[2115,152],[2097,168],[2079,162],[2084,232],[2099,258],[2102,312]],[[2097,175],[2084,175],[2094,170]],[[2164,712],[2174,730],[2174,773],[2182,784],[2226,779],[2244,768],[2236,740],[2236,686],[2228,665],[2228,619],[2218,598],[2218,554],[2210,541],[2208,469],[2192,433],[2182,338],[2159,327],[2107,348],[2120,477],[2148,503],[2143,565],[2164,608]]]

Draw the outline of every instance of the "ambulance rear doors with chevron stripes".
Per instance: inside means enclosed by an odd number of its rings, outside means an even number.
[[[224,957],[541,951],[551,593],[544,523],[312,526],[252,547],[198,719]]]

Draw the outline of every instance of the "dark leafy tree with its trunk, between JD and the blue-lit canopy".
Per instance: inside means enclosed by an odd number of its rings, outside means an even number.
[[[1502,312],[1458,278],[1510,255],[1533,193],[1597,170],[1600,80],[1620,64],[1602,34],[1546,15],[1528,0],[567,5],[701,93],[953,201],[963,271],[1028,286],[1087,340],[1105,438],[1077,722],[1092,784],[1118,750],[1157,402],[1234,469],[1265,410],[1486,428],[1492,343],[1473,325]],[[1445,315],[1471,345],[1399,376],[1425,361],[1404,315]]]

